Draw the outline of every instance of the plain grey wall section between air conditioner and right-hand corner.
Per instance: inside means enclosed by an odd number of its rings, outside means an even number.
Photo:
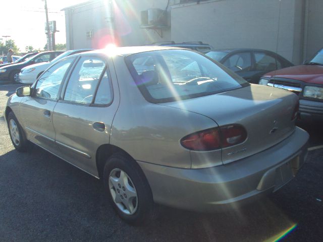
[[[172,6],[172,38],[203,41],[214,48],[262,48],[294,63],[295,8],[302,0],[216,0]],[[297,23],[301,24],[301,23]],[[298,33],[297,35],[299,35]]]

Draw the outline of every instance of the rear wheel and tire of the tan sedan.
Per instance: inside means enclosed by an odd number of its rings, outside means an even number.
[[[104,188],[118,215],[130,224],[140,224],[153,215],[150,187],[139,165],[118,153],[105,163]]]

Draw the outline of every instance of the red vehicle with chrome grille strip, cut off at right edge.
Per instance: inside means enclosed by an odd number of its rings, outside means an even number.
[[[259,84],[294,92],[299,97],[300,119],[323,121],[323,49],[303,65],[265,74]]]

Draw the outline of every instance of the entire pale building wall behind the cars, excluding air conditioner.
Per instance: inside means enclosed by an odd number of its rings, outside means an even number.
[[[101,48],[112,40],[119,46],[203,41],[214,48],[268,49],[300,64],[323,47],[322,0],[170,0],[170,29],[140,28],[141,11],[167,4],[92,0],[67,8],[67,48]],[[93,38],[86,37],[88,30]]]

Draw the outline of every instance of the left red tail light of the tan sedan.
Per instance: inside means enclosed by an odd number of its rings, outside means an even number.
[[[185,136],[181,145],[189,150],[209,151],[240,144],[246,138],[247,132],[242,126],[228,125]]]

